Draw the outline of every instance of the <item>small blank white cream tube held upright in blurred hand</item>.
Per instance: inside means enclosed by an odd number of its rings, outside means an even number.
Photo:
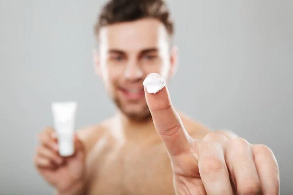
[[[60,156],[74,154],[74,126],[77,102],[52,102],[54,126],[58,137]]]

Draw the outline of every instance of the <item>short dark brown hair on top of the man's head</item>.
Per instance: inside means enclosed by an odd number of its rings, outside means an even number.
[[[103,26],[144,18],[160,20],[170,36],[174,34],[173,21],[164,0],[109,0],[99,15],[95,25],[98,35]]]

